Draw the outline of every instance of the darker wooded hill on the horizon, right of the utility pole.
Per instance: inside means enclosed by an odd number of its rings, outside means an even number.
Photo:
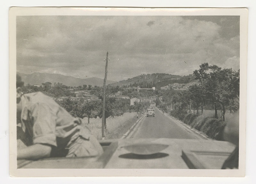
[[[164,73],[155,73],[155,74],[142,74],[131,79],[115,82],[109,84],[109,86],[124,86],[124,87],[137,87],[138,85],[141,88],[161,88],[168,86],[173,83],[183,83],[187,84],[195,81],[195,77],[190,74],[187,76],[164,74]]]

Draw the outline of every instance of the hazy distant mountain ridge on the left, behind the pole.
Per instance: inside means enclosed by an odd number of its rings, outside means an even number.
[[[63,85],[66,86],[83,86],[84,84],[86,85],[92,85],[92,86],[103,86],[103,79],[96,78],[96,77],[91,77],[87,79],[79,79],[71,76],[66,76],[66,75],[61,75],[61,74],[48,74],[48,73],[32,73],[32,74],[23,74],[17,72],[22,78],[22,81],[24,81],[24,85],[30,84],[42,84],[45,82],[51,82],[54,84],[56,83],[62,83]],[[111,84],[116,81],[106,81],[106,84]]]

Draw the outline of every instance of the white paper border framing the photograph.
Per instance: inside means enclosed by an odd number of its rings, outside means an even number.
[[[82,8],[82,7],[12,7],[9,12],[10,39],[10,122],[16,122],[16,16],[29,15],[168,15],[240,16],[240,116],[239,116],[239,169],[17,169],[16,125],[10,123],[10,175],[15,177],[78,177],[78,176],[199,176],[243,177],[245,175],[247,27],[246,8]],[[71,172],[72,170],[72,172]]]

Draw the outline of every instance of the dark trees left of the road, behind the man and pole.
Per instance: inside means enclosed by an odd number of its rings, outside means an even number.
[[[34,85],[26,85],[23,87],[22,91],[24,93],[29,92],[37,92],[41,91],[44,94],[53,97],[57,103],[60,104],[64,109],[66,109],[71,115],[74,117],[88,118],[88,124],[90,123],[91,118],[102,118],[102,100],[103,100],[103,92],[102,88],[98,86],[92,87],[92,85],[83,85],[76,87],[77,90],[84,90],[89,91],[89,93],[93,96],[97,96],[98,99],[84,99],[84,98],[70,98],[76,97],[74,92],[71,92],[69,89],[73,87],[68,87],[63,85],[62,83],[54,83],[52,85],[51,82],[42,83],[41,86],[34,86]],[[123,88],[118,86],[107,88],[107,95],[106,95],[106,106],[105,106],[105,128],[107,127],[106,119],[108,117],[117,117],[122,116],[125,112],[137,111],[142,110],[145,107],[142,103],[135,103],[130,105],[130,99],[116,99],[113,94],[117,92],[126,92]],[[127,91],[128,95],[128,91]],[[83,96],[83,94],[82,94]],[[129,96],[134,97],[138,96],[137,90],[132,89],[129,91]],[[61,100],[59,97],[68,97],[62,98]]]

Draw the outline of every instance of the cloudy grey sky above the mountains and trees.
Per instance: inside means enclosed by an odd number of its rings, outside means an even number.
[[[17,16],[17,71],[105,76],[239,69],[239,16]]]

